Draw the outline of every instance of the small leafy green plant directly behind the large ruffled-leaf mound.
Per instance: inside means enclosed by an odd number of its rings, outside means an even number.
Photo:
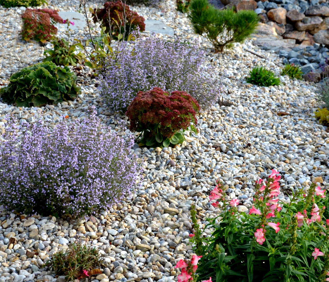
[[[51,42],[54,44],[54,49],[48,49],[43,52],[43,55],[46,58],[43,59],[43,62],[53,62],[56,65],[73,65],[82,64],[86,55],[79,52],[76,54],[78,49],[83,50],[81,43],[75,43],[69,45],[64,39],[58,39]]]

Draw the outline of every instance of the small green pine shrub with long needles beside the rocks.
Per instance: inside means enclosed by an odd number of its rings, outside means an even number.
[[[218,10],[207,0],[193,0],[190,11],[195,33],[207,38],[220,52],[233,47],[233,43],[242,43],[255,31],[259,21],[254,11]]]

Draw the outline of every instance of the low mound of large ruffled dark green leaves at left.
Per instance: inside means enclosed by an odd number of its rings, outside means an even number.
[[[67,67],[51,62],[38,63],[14,73],[9,85],[0,89],[0,96],[18,107],[39,107],[74,99],[80,92],[75,76]]]

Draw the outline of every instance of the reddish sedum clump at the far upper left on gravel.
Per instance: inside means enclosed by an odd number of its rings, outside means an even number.
[[[57,11],[51,9],[26,9],[22,14],[22,38],[45,43],[57,33],[56,23],[63,23]]]

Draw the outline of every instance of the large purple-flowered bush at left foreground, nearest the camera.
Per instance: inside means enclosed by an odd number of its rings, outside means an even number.
[[[0,206],[27,214],[80,217],[109,209],[136,189],[134,141],[102,128],[95,109],[83,121],[40,120],[8,128],[0,144]]]

